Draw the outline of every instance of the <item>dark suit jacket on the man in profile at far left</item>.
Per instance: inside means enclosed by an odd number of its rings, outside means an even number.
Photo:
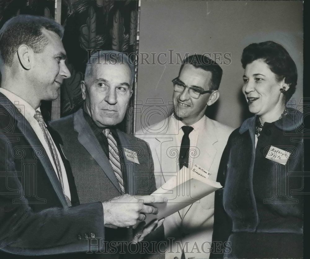
[[[8,253],[24,257],[86,252],[88,240],[84,238],[85,234],[94,233],[96,237],[104,238],[101,203],[68,207],[37,135],[15,105],[1,93],[0,154],[2,258],[7,258]],[[70,181],[68,161],[64,164]],[[70,187],[73,203],[77,205],[72,181]]]

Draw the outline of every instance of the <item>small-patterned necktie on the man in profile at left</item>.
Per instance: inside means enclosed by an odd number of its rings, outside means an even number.
[[[45,139],[45,141],[46,141],[46,143],[48,145],[48,148],[51,151],[51,155],[53,157],[53,160],[54,160],[54,163],[55,163],[55,166],[56,166],[56,170],[57,170],[57,176],[58,176],[58,179],[60,181],[61,188],[64,191],[64,181],[63,181],[63,178],[62,178],[62,172],[61,172],[61,167],[60,167],[60,163],[59,163],[59,158],[58,158],[58,155],[57,155],[54,143],[53,143],[53,141],[51,139],[51,136],[50,136],[50,134],[49,134],[49,132],[48,132],[46,126],[45,126],[42,114],[39,111],[36,111],[36,113],[34,114],[33,117],[38,121],[38,123],[40,125],[40,128],[42,130],[44,139]],[[71,206],[71,201],[70,201],[69,197],[67,195],[64,195],[64,196],[66,198],[66,201],[67,201],[68,205]]]

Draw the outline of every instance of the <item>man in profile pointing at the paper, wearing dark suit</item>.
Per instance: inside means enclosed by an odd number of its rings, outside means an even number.
[[[117,201],[123,203],[79,205],[60,138],[48,131],[39,108],[41,100],[57,98],[70,77],[62,35],[59,24],[31,15],[14,17],[0,30],[1,258],[69,258],[61,254],[90,251],[87,238],[96,238],[98,246],[91,249],[101,251],[104,225],[132,226],[145,213],[157,212],[143,202],[163,201],[122,196]]]

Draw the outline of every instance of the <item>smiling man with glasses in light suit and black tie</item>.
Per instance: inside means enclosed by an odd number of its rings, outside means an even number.
[[[205,176],[216,181],[220,158],[233,130],[205,116],[206,108],[219,98],[221,77],[222,69],[210,58],[197,54],[186,58],[179,76],[172,80],[175,112],[164,121],[136,132],[138,138],[150,145],[157,188],[176,176],[182,166],[192,169],[194,164],[210,172],[210,176]],[[182,143],[186,142],[184,126],[191,126],[185,155],[182,154]],[[153,129],[162,130],[153,134]],[[209,258],[213,214],[214,193],[211,193],[167,217],[165,237],[171,239],[166,258]]]

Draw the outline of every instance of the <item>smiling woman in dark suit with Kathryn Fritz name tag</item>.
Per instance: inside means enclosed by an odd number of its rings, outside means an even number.
[[[241,63],[242,92],[255,115],[232,132],[223,152],[211,258],[301,258],[302,113],[286,108],[296,65],[273,41],[247,46]]]

